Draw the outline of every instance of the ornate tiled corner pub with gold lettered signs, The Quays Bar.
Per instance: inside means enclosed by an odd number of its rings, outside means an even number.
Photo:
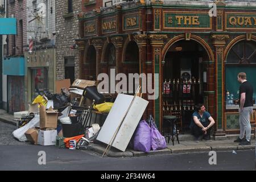
[[[154,115],[160,130],[172,114],[180,133],[188,133],[195,105],[204,103],[216,140],[238,134],[239,72],[247,73],[256,96],[256,3],[214,1],[213,16],[209,3],[137,1],[80,14],[80,77],[110,69],[158,73],[158,99],[143,98],[150,101],[144,117]]]

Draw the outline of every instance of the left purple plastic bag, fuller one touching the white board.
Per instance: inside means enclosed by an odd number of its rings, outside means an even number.
[[[133,149],[142,152],[149,152],[151,149],[150,126],[145,120],[139,122],[135,131]]]

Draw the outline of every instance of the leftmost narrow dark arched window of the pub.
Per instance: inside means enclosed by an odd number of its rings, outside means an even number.
[[[94,46],[89,46],[86,54],[86,68],[85,68],[85,79],[96,80],[97,78],[97,61],[96,61],[96,49]]]

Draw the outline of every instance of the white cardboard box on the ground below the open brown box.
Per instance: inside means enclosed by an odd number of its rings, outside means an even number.
[[[42,146],[55,146],[57,130],[38,131],[38,144]]]

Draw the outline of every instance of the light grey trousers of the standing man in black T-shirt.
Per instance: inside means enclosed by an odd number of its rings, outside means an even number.
[[[250,114],[253,113],[253,107],[243,107],[241,111],[239,109],[240,117],[240,139],[243,139],[246,133],[246,140],[250,141],[251,139],[251,124],[250,124]]]

